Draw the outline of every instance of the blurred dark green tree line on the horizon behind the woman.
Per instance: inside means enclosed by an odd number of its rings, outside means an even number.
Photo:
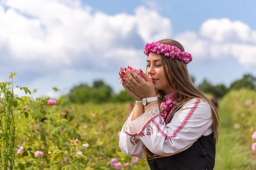
[[[192,82],[195,83],[195,77],[191,76],[191,79]],[[238,90],[241,88],[254,89],[255,83],[256,77],[251,74],[244,74],[241,79],[235,80],[229,87],[224,84],[213,85],[209,80],[203,79],[197,88],[204,93],[213,94],[217,98],[222,98],[230,90]],[[70,90],[66,97],[70,102],[77,104],[84,104],[87,102],[128,102],[134,100],[125,90],[114,94],[113,89],[105,84],[103,80],[95,80],[91,86],[86,83],[76,85]]]

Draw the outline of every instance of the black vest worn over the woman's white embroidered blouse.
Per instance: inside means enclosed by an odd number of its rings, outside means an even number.
[[[172,113],[169,113],[171,122],[175,112],[182,107],[176,106]],[[147,157],[151,170],[213,170],[215,165],[215,139],[213,133],[208,136],[201,136],[191,147],[172,156]]]

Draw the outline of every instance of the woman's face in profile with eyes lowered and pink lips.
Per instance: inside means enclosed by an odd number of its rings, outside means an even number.
[[[149,53],[147,59],[147,75],[152,79],[155,90],[163,90],[166,95],[172,93],[172,88],[164,74],[162,57],[160,54]],[[170,78],[172,82],[172,76]]]

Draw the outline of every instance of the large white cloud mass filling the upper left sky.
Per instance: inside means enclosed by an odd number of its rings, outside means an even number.
[[[84,61],[96,64],[99,59],[98,65],[109,64],[109,57],[122,57],[105,56],[124,48],[118,41],[137,36],[142,42],[137,48],[143,49],[145,42],[170,37],[172,31],[169,19],[145,7],[135,9],[134,15],[110,16],[92,14],[90,7],[73,0],[6,0],[3,5],[9,8],[0,6],[0,47],[7,46],[15,59],[52,68]],[[128,49],[123,53],[133,53]]]

